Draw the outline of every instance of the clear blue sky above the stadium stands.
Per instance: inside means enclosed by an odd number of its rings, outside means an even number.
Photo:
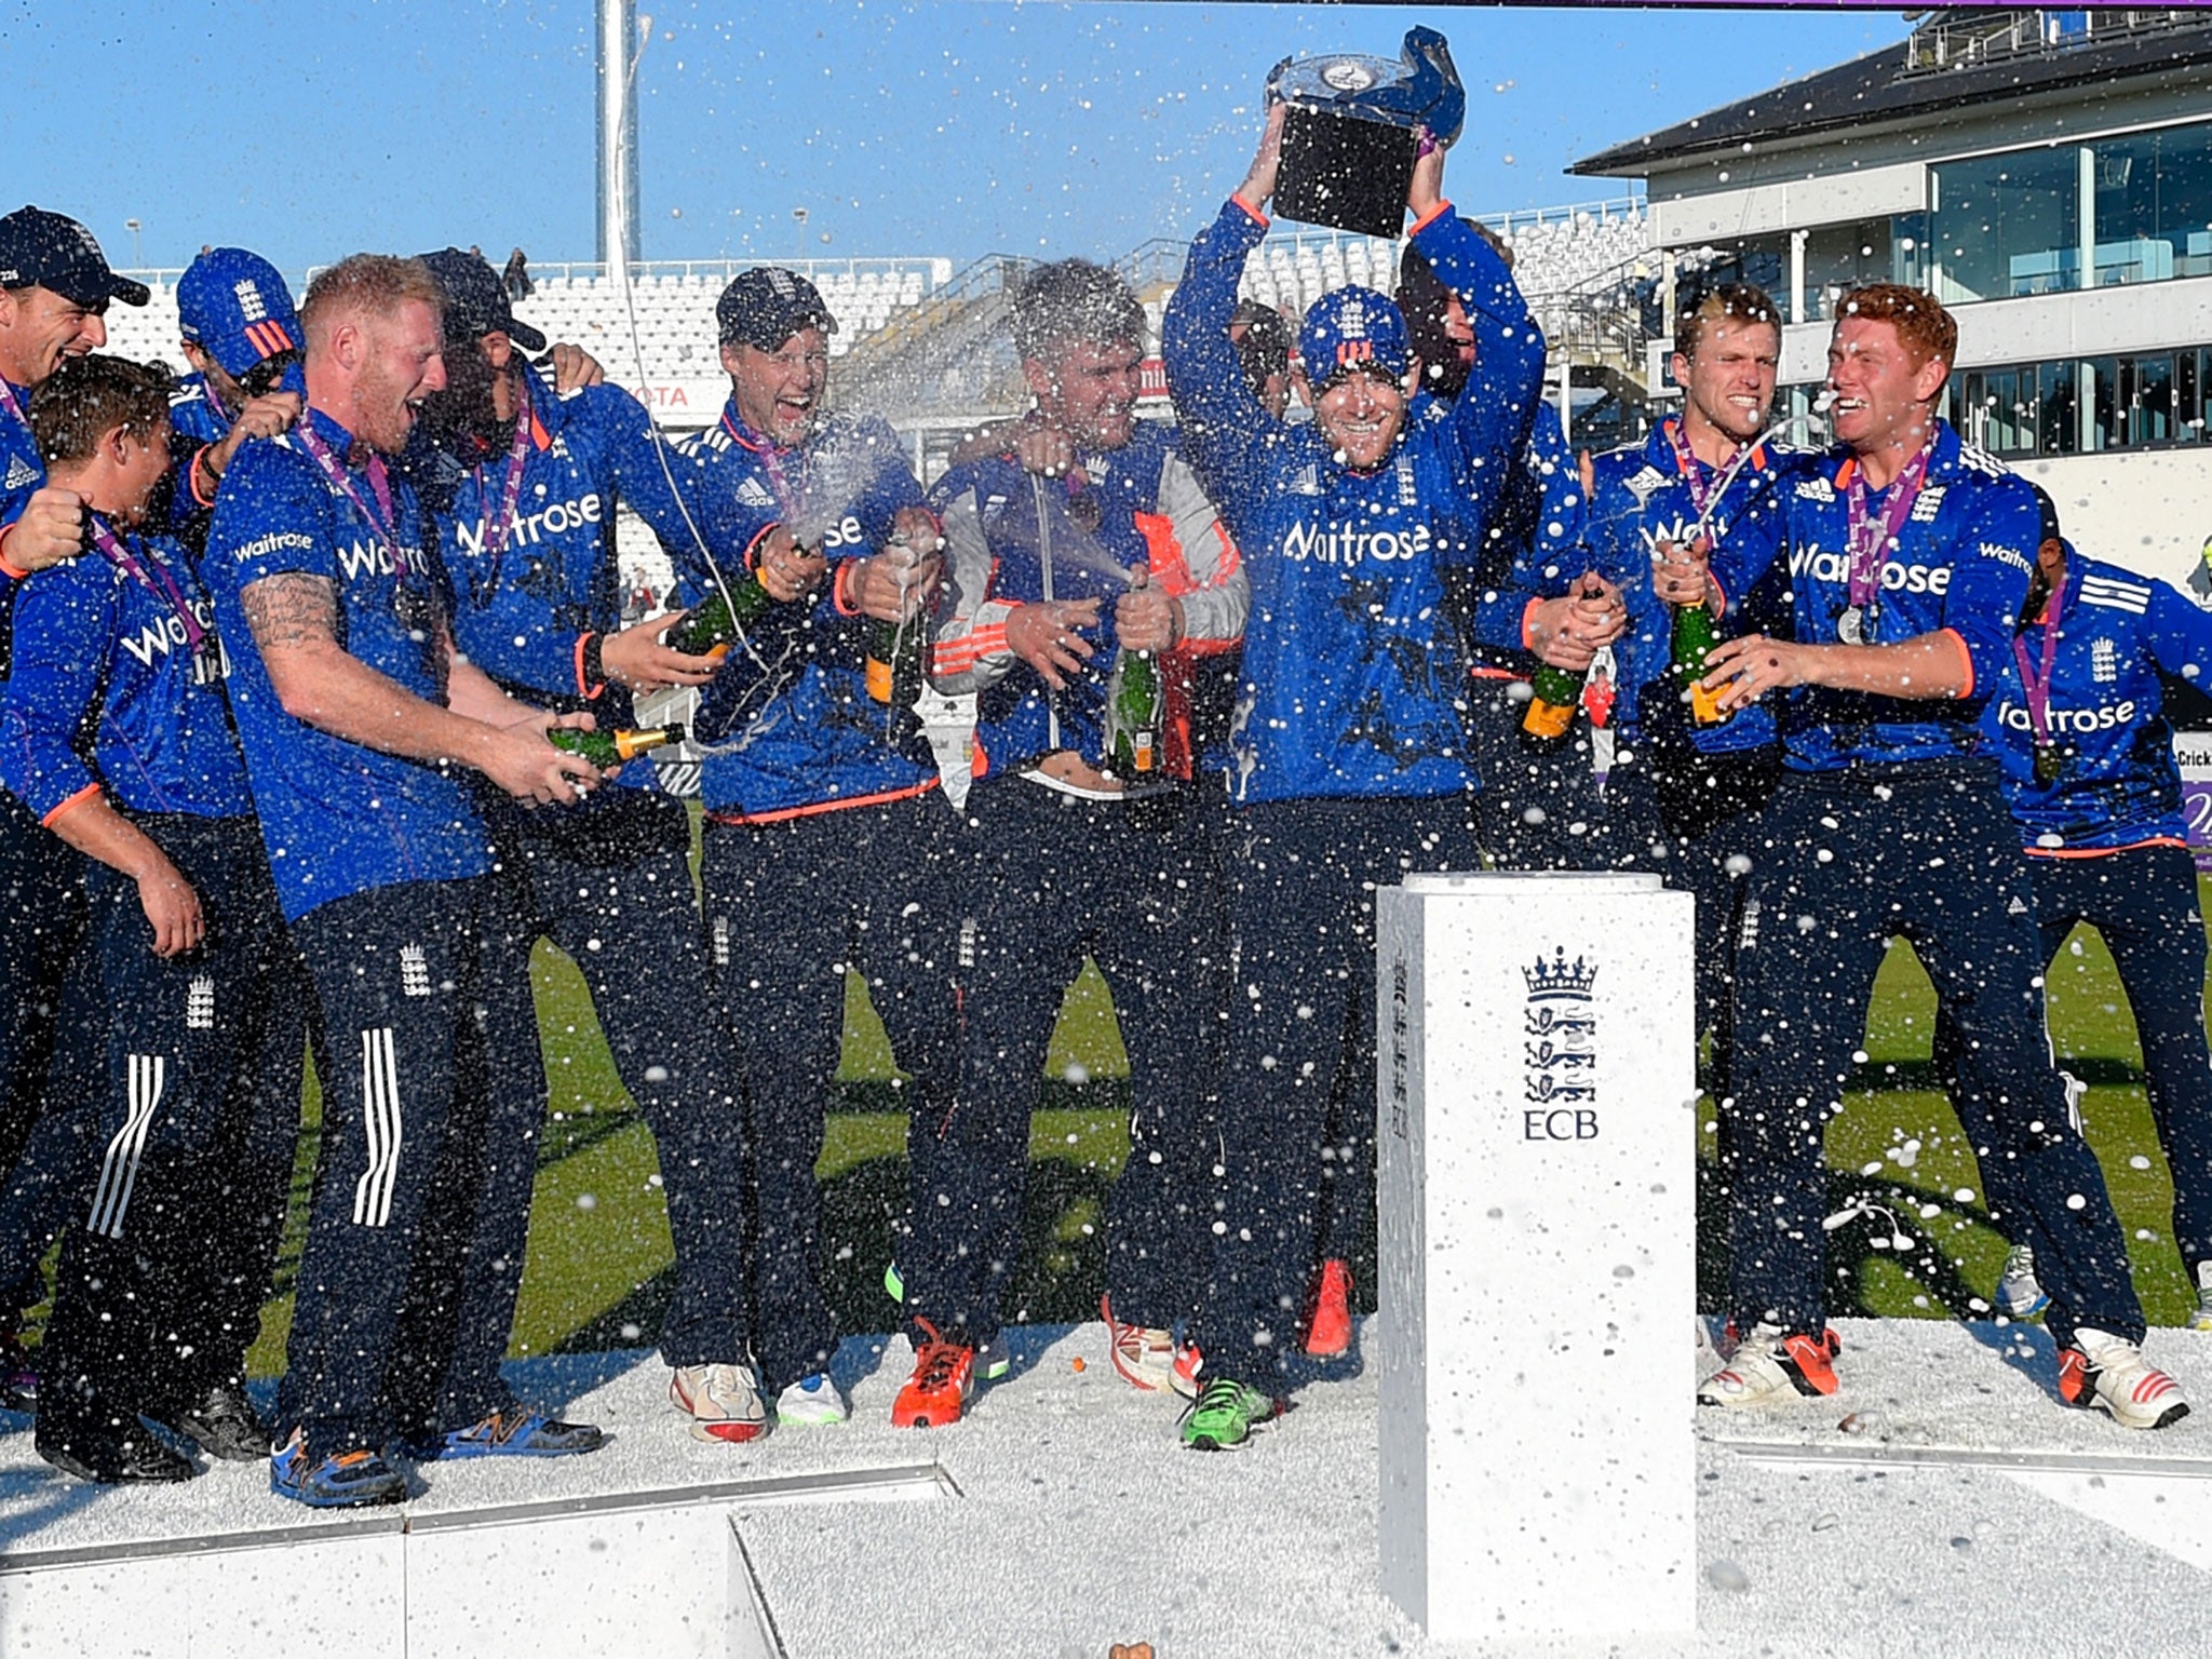
[[[648,259],[1115,257],[1188,237],[1243,177],[1283,55],[1469,84],[1467,210],[1619,186],[1566,161],[1900,38],[1896,13],[639,0]],[[591,259],[591,0],[0,0],[0,192],[108,257],[206,241],[285,270],[356,248]],[[792,210],[805,208],[801,226]]]

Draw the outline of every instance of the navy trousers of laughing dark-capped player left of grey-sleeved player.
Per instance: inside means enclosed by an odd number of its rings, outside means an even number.
[[[827,1369],[814,1166],[856,969],[905,1073],[909,1124],[958,1079],[956,821],[936,794],[706,825],[706,916],[748,1079],[752,1343],[770,1391]],[[909,1133],[911,1139],[911,1133]]]

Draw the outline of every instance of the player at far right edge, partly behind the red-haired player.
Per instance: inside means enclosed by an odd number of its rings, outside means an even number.
[[[2205,1051],[2205,922],[2181,821],[2168,681],[2212,675],[2212,613],[2179,588],[2081,557],[2037,491],[2042,544],[2013,675],[1982,728],[2004,761],[2004,799],[2026,843],[2044,958],[2077,922],[2097,929],[2143,1044],[2143,1093],[2174,1177],[2174,1245],[2197,1290],[2190,1329],[2212,1329],[2212,1055]],[[1958,1037],[1938,1026],[1938,1060]],[[1984,1177],[2000,1197],[2002,1175]],[[2048,1305],[2033,1234],[2015,1234],[1997,1303]]]

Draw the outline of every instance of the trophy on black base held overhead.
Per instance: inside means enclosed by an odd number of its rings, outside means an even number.
[[[1418,155],[1413,128],[1438,144],[1460,137],[1467,88],[1433,29],[1409,29],[1396,62],[1332,53],[1285,58],[1267,102],[1290,106],[1274,210],[1310,226],[1398,237]]]

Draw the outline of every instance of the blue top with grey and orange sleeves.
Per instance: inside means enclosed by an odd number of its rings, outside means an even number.
[[[1106,684],[1113,650],[1055,692],[1006,650],[1006,617],[1024,604],[1097,599],[1099,633],[1144,568],[1183,602],[1183,641],[1166,653],[1168,765],[1188,774],[1188,655],[1237,648],[1248,588],[1221,515],[1183,460],[1172,427],[1137,422],[1119,449],[1077,453],[1060,478],[1040,478],[1015,453],[953,467],[929,491],[945,518],[947,602],[931,657],[933,679],[975,692],[980,774],[1002,772],[1053,750],[1075,750],[1104,765]]]

